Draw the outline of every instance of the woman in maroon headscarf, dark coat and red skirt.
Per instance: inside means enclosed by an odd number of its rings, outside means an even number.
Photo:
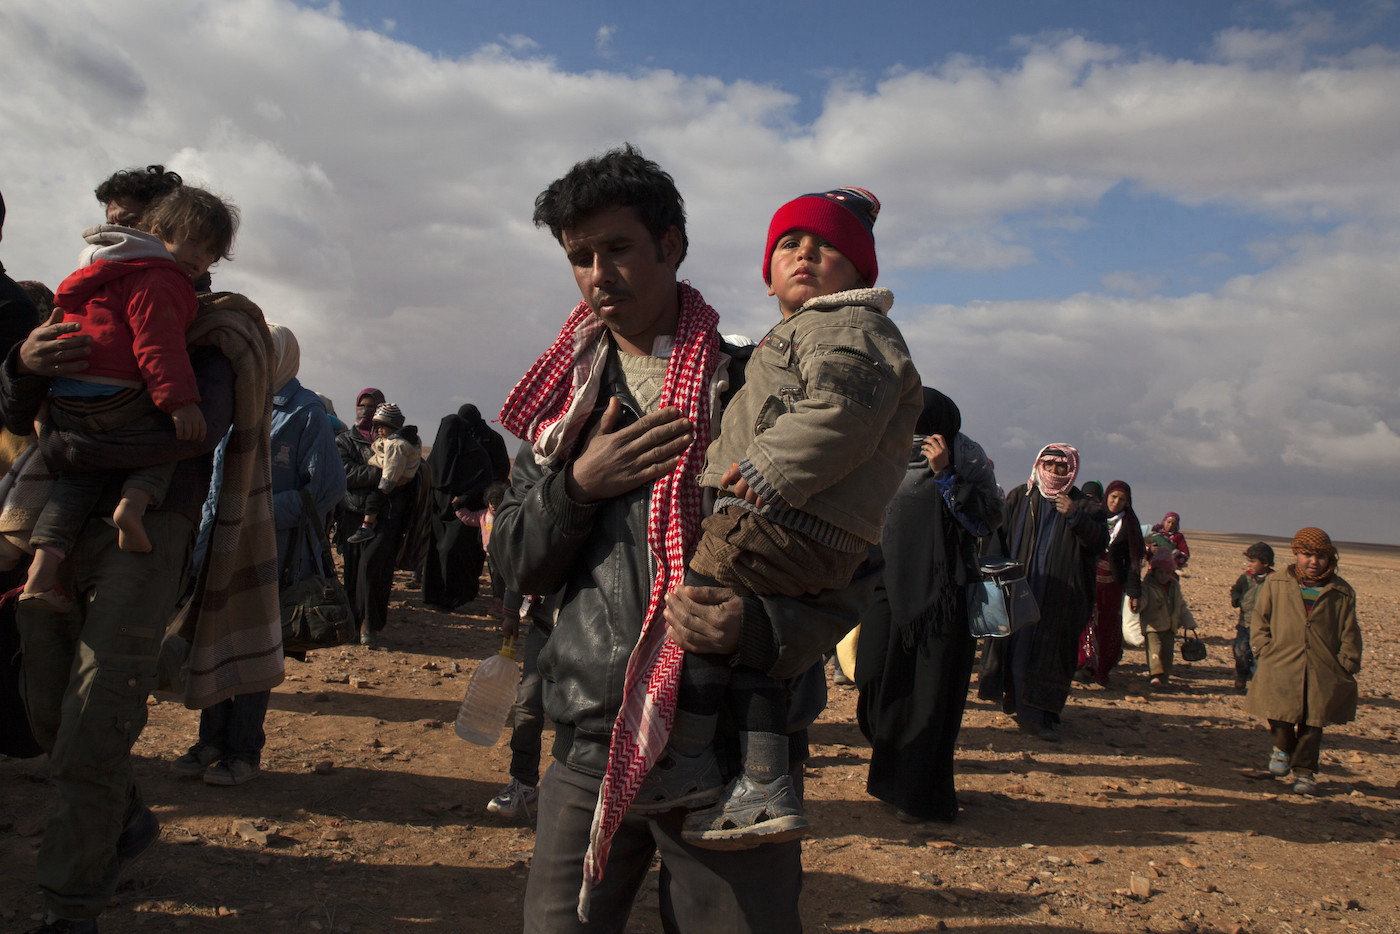
[[[1142,598],[1142,527],[1133,511],[1133,489],[1113,480],[1103,493],[1109,514],[1109,548],[1093,569],[1093,616],[1079,639],[1075,681],[1107,686],[1109,672],[1123,655],[1123,599],[1137,612]]]

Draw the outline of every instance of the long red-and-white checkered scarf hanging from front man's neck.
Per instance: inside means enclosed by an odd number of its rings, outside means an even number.
[[[666,748],[676,714],[683,650],[666,639],[665,597],[685,577],[686,559],[700,538],[700,471],[710,445],[710,386],[720,363],[720,315],[700,293],[680,283],[675,349],[666,367],[661,406],[676,406],[690,420],[694,438],[680,463],[651,487],[647,546],[657,557],[657,577],[643,618],[641,636],[627,660],[622,709],[613,723],[608,772],[598,793],[578,917],[587,920],[589,893],[602,879],[612,837],[637,787]],[[574,308],[559,337],[515,385],[500,423],[531,442],[535,458],[560,466],[571,454],[598,399],[606,361],[605,325],[587,302]]]

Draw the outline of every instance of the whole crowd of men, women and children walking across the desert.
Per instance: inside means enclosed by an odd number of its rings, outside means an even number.
[[[172,669],[200,720],[171,767],[224,787],[262,774],[297,651],[281,598],[322,574],[365,648],[396,570],[452,612],[484,569],[507,634],[526,629],[510,783],[487,809],[535,819],[529,931],[622,930],[658,854],[668,930],[799,930],[806,730],[857,627],[869,794],[902,821],[958,819],[970,595],[993,557],[1035,615],[981,640],[977,692],[1039,741],[1127,647],[1158,690],[1177,640],[1193,651],[1176,513],[1144,531],[1128,483],[1078,485],[1067,442],[1004,493],[953,399],[920,385],[875,284],[867,189],[778,206],[763,255],[778,321],[738,346],[678,277],[685,207],[659,165],[627,146],[550,183],[535,223],[581,301],[501,409],[514,459],[475,405],[427,456],[378,388],[340,423],[300,382],[293,332],[213,290],[227,202],[158,165],[97,197],[106,223],[52,315],[0,267],[0,741],[48,753],[59,800],[35,934],[97,931],[157,840],[130,751]],[[1264,543],[1245,553],[1235,686],[1268,724],[1268,773],[1313,794],[1323,728],[1355,716],[1361,630],[1330,538],[1305,528],[1292,552],[1282,571]]]

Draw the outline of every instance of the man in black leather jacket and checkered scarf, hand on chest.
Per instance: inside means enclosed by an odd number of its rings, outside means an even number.
[[[556,762],[540,781],[525,930],[623,930],[658,853],[668,930],[799,930],[797,842],[701,850],[682,839],[685,811],[641,815],[599,790],[609,770],[636,790],[661,758],[671,724],[657,710],[673,700],[676,653],[820,678],[822,654],[854,625],[872,576],[862,567],[851,585],[812,598],[680,585],[699,538],[696,480],[718,414],[710,403],[739,377],[718,315],[676,281],[687,245],[680,195],[629,146],[552,183],[535,220],[564,248],[584,301],[501,412],[525,444],[493,548],[512,590],[559,594],[539,660]],[[651,678],[664,671],[673,674]],[[794,696],[808,697],[811,682],[795,682]],[[825,693],[805,710],[790,704],[790,730],[822,706]],[[729,774],[736,745],[715,738]]]

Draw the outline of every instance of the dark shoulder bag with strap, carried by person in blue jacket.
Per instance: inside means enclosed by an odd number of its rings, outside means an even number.
[[[321,573],[293,580],[293,557],[302,541],[321,545]],[[287,557],[277,580],[281,605],[281,650],[304,653],[356,640],[354,611],[330,560],[330,542],[311,494],[301,490],[301,525],[287,543]]]

